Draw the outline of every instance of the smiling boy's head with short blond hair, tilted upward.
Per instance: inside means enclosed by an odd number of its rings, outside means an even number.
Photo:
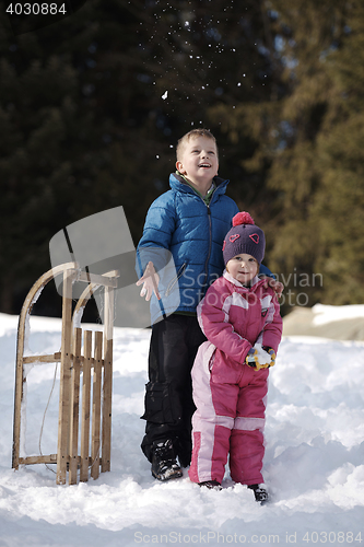
[[[191,138],[184,144],[176,167],[198,188],[209,189],[219,170],[215,142],[208,137]]]

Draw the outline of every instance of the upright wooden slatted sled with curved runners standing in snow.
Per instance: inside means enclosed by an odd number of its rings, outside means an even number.
[[[60,352],[24,357],[25,328],[32,309],[44,287],[60,275],[63,276]],[[90,468],[94,479],[98,477],[99,470],[110,470],[114,290],[117,277],[117,271],[102,276],[86,274],[80,270],[77,263],[68,263],[44,274],[28,292],[17,327],[12,453],[14,469],[23,464],[57,464],[58,485],[66,484],[67,473],[69,484],[74,485],[78,472],[80,480],[86,481]],[[72,283],[75,280],[87,284],[72,313]],[[92,293],[99,287],[104,289],[104,327],[103,331],[94,333],[93,345],[93,333],[83,331],[77,323],[81,324],[83,310]],[[57,362],[60,362],[57,454],[21,457],[21,419],[26,382],[24,365]]]

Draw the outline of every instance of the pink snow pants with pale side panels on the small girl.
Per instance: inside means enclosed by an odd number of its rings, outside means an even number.
[[[197,410],[192,417],[193,447],[188,474],[193,482],[221,482],[230,454],[235,482],[260,484],[269,370],[255,371],[237,363],[228,366],[221,356],[211,342],[204,342],[192,368]]]

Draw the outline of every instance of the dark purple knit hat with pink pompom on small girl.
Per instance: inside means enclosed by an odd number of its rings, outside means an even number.
[[[223,256],[225,265],[236,255],[251,255],[261,263],[265,256],[265,232],[255,225],[248,212],[238,212],[233,218],[233,228],[225,235]]]

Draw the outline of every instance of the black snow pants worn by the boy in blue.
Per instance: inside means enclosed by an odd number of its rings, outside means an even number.
[[[141,447],[152,462],[154,442],[171,439],[181,466],[191,457],[191,368],[206,341],[196,316],[173,314],[152,327],[149,383],[145,391],[145,435]]]

